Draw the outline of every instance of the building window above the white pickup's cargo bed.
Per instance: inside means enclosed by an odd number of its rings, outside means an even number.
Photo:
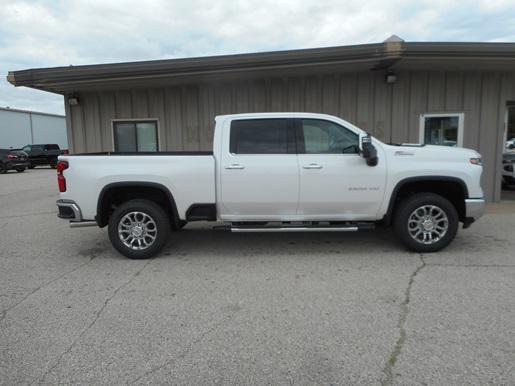
[[[114,150],[118,152],[158,151],[157,121],[113,122]]]

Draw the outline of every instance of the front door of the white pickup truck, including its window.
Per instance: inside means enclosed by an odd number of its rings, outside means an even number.
[[[367,166],[359,135],[332,121],[297,119],[298,215],[305,219],[375,220],[383,202],[386,167]]]

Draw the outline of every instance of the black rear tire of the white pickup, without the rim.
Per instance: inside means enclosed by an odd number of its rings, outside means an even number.
[[[144,213],[150,217],[155,223],[155,228],[149,228],[154,231],[154,241],[145,249],[137,250],[125,245],[118,235],[118,226],[124,216],[131,212]],[[127,218],[126,218],[127,221]],[[130,221],[130,220],[129,220]],[[165,246],[170,235],[170,219],[162,207],[149,200],[130,200],[115,209],[108,225],[109,240],[113,247],[122,255],[130,259],[148,259],[157,255]],[[132,237],[132,236],[131,236]],[[145,241],[146,242],[146,241]],[[136,243],[137,244],[137,243]]]

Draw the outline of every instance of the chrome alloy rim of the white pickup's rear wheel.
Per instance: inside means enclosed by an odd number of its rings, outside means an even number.
[[[141,251],[156,240],[157,226],[148,214],[129,212],[118,223],[118,236],[126,247]]]

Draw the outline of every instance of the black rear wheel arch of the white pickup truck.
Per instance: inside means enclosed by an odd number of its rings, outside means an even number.
[[[174,228],[178,227],[180,217],[172,192],[170,192],[170,190],[163,184],[148,181],[113,182],[104,186],[98,196],[97,214],[95,216],[95,220],[99,227],[105,227],[109,222],[110,204],[113,202],[112,195],[115,192],[121,192],[122,194],[125,194],[125,199],[122,199],[119,202],[120,204],[128,201],[129,199],[141,198],[149,199],[159,205],[162,205],[162,202],[152,199],[151,197],[138,196],[138,192],[159,192],[159,194],[162,194],[164,197],[166,197],[165,203],[169,205],[169,207],[166,209],[169,209],[169,214],[171,215],[172,219],[172,226]]]

